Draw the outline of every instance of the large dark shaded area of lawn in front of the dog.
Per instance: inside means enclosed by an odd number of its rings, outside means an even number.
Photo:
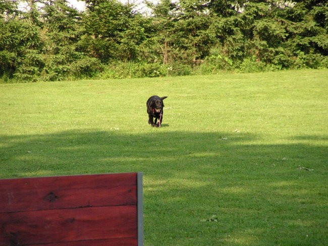
[[[2,178],[144,172],[146,245],[324,245],[328,239],[324,136],[279,145],[220,132],[0,138]]]

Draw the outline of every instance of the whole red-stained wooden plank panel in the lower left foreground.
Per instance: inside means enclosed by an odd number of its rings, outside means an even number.
[[[0,246],[137,245],[137,174],[0,179]]]

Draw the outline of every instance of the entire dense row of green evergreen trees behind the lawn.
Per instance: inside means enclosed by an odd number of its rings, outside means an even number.
[[[0,81],[328,68],[325,0],[85,4],[0,0]]]

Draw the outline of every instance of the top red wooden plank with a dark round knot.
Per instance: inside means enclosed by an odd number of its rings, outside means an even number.
[[[0,179],[0,212],[136,204],[136,173]]]

